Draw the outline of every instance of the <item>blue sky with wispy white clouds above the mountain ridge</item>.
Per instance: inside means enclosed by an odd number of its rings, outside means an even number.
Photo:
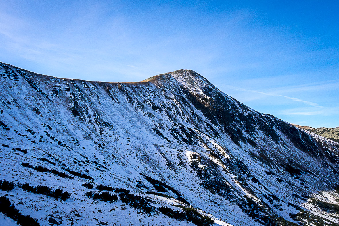
[[[2,1],[0,61],[130,82],[192,69],[262,113],[339,126],[339,1]]]

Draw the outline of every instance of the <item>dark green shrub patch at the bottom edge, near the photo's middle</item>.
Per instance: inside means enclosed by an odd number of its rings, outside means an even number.
[[[158,210],[170,218],[174,218],[178,221],[189,221],[198,226],[210,226],[214,224],[214,221],[207,216],[201,215],[193,208],[182,207],[182,212],[179,210],[173,210],[169,207],[160,206]]]

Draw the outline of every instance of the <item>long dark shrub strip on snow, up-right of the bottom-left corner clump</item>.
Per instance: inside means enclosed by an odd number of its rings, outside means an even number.
[[[34,194],[42,194],[55,199],[60,198],[63,201],[71,197],[71,193],[68,193],[68,191],[63,192],[60,188],[53,189],[45,185],[31,186],[28,183],[25,183],[21,185],[21,188]]]

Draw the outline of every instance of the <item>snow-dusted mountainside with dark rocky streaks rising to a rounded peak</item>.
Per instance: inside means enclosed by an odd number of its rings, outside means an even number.
[[[338,144],[192,70],[0,76],[1,225],[339,224]]]

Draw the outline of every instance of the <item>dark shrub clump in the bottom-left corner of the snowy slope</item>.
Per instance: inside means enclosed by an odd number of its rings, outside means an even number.
[[[0,197],[0,212],[3,212],[7,217],[17,221],[21,226],[40,226],[36,218],[29,215],[22,214],[19,210],[12,205],[11,201],[5,196]]]

